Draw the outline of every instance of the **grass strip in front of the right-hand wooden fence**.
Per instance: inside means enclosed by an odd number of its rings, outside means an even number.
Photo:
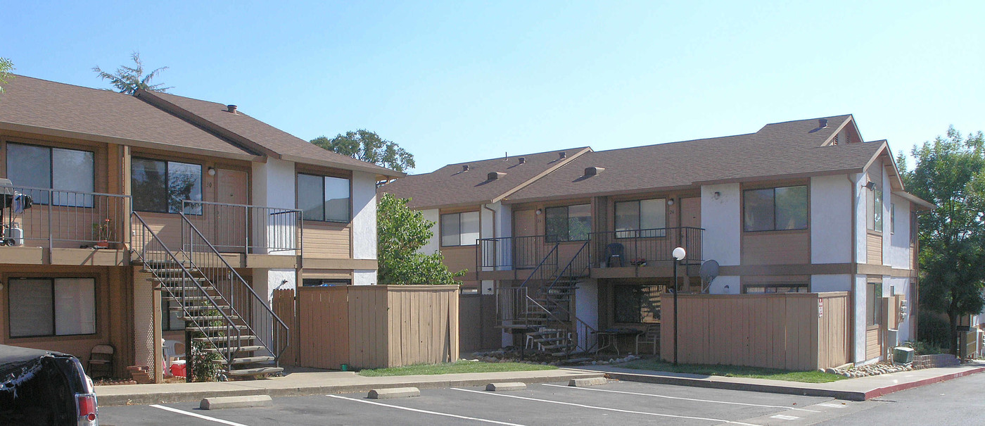
[[[689,373],[704,376],[725,376],[752,379],[771,379],[788,382],[804,383],[828,383],[845,379],[842,376],[821,373],[817,371],[792,372],[787,370],[774,370],[755,367],[739,367],[725,365],[701,365],[701,364],[678,364],[674,366],[657,360],[636,360],[625,364],[617,364],[614,367],[627,368],[633,370],[652,370],[672,373]]]

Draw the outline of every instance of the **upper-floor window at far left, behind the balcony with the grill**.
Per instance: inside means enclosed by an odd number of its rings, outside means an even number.
[[[7,177],[16,185],[62,191],[95,191],[95,154],[63,148],[48,148],[17,143],[7,144]],[[55,191],[30,191],[38,204],[92,207],[92,195]]]

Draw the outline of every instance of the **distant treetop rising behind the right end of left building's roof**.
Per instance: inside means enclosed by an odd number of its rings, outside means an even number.
[[[319,136],[311,139],[311,143],[397,172],[414,168],[413,154],[395,142],[380,138],[376,133],[365,129],[349,131],[346,134],[340,133],[331,139]]]

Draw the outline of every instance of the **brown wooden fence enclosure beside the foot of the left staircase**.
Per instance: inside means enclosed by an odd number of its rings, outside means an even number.
[[[458,360],[457,285],[300,287],[296,295],[286,364],[338,370]],[[289,296],[275,293],[283,319],[291,306],[278,297]]]

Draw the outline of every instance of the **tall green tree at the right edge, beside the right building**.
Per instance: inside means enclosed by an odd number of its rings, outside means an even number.
[[[904,184],[938,206],[919,219],[920,304],[948,315],[956,355],[957,320],[985,307],[985,137],[950,127],[946,136],[914,146],[912,155],[911,172],[902,156],[896,159]]]

